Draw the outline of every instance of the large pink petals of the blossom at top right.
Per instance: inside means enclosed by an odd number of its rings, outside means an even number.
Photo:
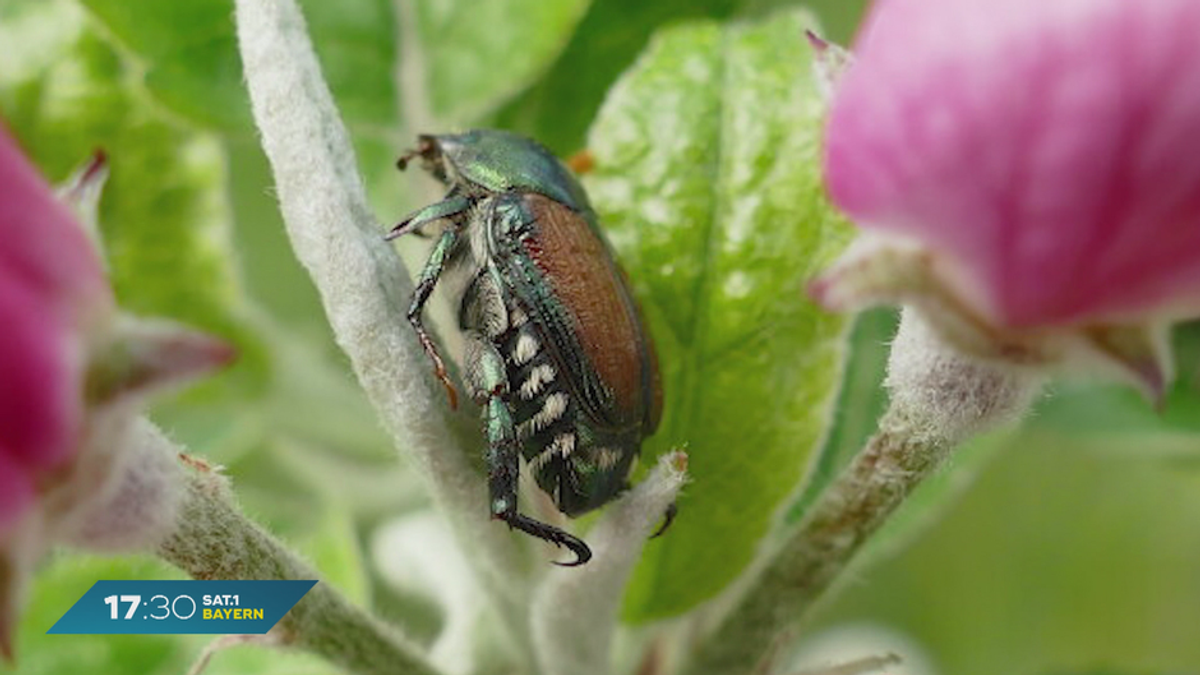
[[[1198,36],[1196,0],[881,0],[829,193],[994,327],[1195,316]]]

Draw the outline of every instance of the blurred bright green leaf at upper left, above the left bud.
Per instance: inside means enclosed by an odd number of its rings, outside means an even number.
[[[162,114],[134,65],[73,5],[19,2],[10,11],[11,28],[0,28],[7,49],[43,40],[58,49],[2,73],[0,112],[53,180],[97,148],[108,151],[100,220],[119,301],[239,347],[238,365],[199,398],[256,396],[269,363],[245,321],[217,139]]]

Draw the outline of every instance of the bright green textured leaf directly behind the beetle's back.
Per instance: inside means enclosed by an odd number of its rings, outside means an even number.
[[[845,321],[804,288],[848,228],[821,190],[809,26],[788,12],[664,31],[590,132],[586,184],[662,368],[665,418],[643,464],[684,446],[692,477],[635,573],[629,619],[728,584],[826,432]]]

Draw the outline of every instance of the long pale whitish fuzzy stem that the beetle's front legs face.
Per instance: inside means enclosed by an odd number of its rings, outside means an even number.
[[[448,514],[503,625],[527,645],[529,561],[488,520],[461,431],[474,420],[451,416],[431,384],[404,317],[413,282],[371,215],[304,17],[292,0],[238,0],[235,10],[251,107],[296,257],[376,412]]]

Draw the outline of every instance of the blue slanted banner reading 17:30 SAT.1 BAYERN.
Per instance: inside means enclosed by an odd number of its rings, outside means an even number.
[[[96,581],[47,633],[262,634],[317,581]]]

